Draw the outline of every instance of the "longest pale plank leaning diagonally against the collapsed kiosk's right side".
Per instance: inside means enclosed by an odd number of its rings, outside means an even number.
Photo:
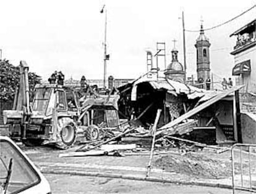
[[[199,111],[209,107],[210,105],[212,105],[213,103],[215,102],[218,102],[218,100],[221,100],[223,99],[224,97],[226,97],[227,95],[231,94],[232,92],[234,91],[237,91],[239,89],[241,89],[243,86],[234,86],[233,88],[227,90],[227,91],[224,91],[224,92],[221,92],[220,94],[216,95],[215,97],[213,97],[212,99],[210,100],[207,100],[207,102],[204,102],[200,105],[198,105],[198,107],[188,111],[187,113],[185,113],[184,115],[181,115],[179,116],[179,118],[177,119],[174,119],[173,121],[171,121],[170,123],[168,124],[165,124],[164,126],[162,126],[160,128],[160,130],[158,132],[156,132],[156,135],[159,135],[161,134],[165,129],[169,129],[173,126],[175,126],[176,124],[179,124],[181,123],[181,121],[183,121],[184,119],[187,119],[189,118],[190,116],[193,116],[195,115],[196,113],[198,113]]]

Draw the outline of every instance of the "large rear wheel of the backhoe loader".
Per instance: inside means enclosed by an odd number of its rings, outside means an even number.
[[[56,142],[56,147],[66,150],[74,145],[75,140],[77,139],[77,132],[72,119],[65,120],[65,122],[62,124],[59,136],[60,140]]]

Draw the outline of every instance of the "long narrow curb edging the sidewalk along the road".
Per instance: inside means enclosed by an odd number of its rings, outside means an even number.
[[[197,185],[203,187],[218,187],[218,188],[233,188],[232,185],[226,184],[214,184],[210,182],[196,182],[196,181],[183,181],[183,180],[168,180],[168,179],[159,179],[157,177],[138,177],[138,176],[126,176],[121,174],[111,174],[105,172],[79,172],[79,171],[65,171],[65,170],[50,170],[50,169],[41,169],[43,174],[68,174],[74,176],[90,176],[90,177],[106,177],[106,178],[115,178],[115,179],[127,179],[127,180],[140,180],[148,182],[160,182],[168,184],[181,184],[181,185]]]

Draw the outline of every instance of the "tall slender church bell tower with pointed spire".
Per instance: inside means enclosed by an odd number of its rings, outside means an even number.
[[[197,81],[205,83],[210,79],[210,47],[209,39],[205,36],[203,24],[201,24],[200,35],[197,38],[195,47],[197,48]]]

